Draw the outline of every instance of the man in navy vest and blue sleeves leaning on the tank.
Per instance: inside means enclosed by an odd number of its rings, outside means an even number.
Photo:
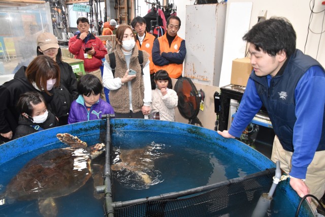
[[[271,160],[280,161],[300,197],[320,199],[325,191],[325,72],[312,57],[296,49],[291,23],[273,17],[254,25],[249,42],[253,71],[225,138],[240,137],[262,105],[274,132]],[[310,197],[312,208],[316,208]]]

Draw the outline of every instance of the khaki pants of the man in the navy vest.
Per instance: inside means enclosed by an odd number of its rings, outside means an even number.
[[[277,136],[274,138],[271,160],[275,163],[280,161],[281,169],[289,174],[291,170],[291,158],[293,152],[283,149]],[[308,166],[306,174],[306,185],[310,189],[310,194],[320,199],[325,191],[325,150],[316,151],[315,156]],[[311,198],[312,199],[312,198]],[[310,204],[315,211],[318,203],[312,199]]]

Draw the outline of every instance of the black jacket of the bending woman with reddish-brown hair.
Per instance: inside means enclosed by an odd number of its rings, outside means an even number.
[[[27,91],[37,91],[44,96],[48,105],[52,101],[53,96],[47,95],[46,92],[39,91],[27,80],[25,70],[26,67],[21,67],[16,72],[14,79],[0,86],[0,133],[8,133],[10,131],[15,133],[19,117],[16,105],[21,94]],[[54,91],[52,89],[49,92],[53,94]],[[49,106],[48,109],[51,110]]]

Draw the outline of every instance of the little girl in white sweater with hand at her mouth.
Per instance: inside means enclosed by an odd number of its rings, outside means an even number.
[[[150,119],[175,121],[175,107],[178,96],[173,90],[172,80],[165,70],[159,70],[154,75],[155,88],[151,91]]]

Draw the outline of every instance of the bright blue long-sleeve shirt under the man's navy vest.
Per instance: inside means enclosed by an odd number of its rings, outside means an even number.
[[[267,79],[270,86],[273,78],[267,76]],[[307,167],[313,160],[320,141],[325,105],[324,86],[325,73],[319,66],[313,66],[306,71],[295,88],[297,120],[293,133],[294,153],[290,175],[296,178],[306,178]],[[252,78],[249,78],[229,133],[240,137],[261,107],[262,101],[257,94],[255,83]]]

